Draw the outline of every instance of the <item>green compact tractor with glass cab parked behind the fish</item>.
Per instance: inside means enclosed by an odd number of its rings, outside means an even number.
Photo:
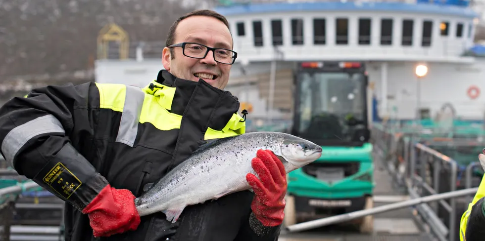
[[[368,78],[360,62],[304,62],[294,73],[291,134],[322,146],[322,157],[288,174],[285,225],[372,208],[374,163]],[[353,220],[371,233],[373,216]]]

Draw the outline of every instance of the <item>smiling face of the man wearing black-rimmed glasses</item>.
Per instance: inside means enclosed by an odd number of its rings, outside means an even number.
[[[229,29],[220,20],[207,16],[191,16],[180,21],[175,31],[174,43],[195,42],[209,47],[232,49],[232,38]],[[221,64],[214,60],[212,51],[204,59],[194,59],[184,55],[181,47],[163,49],[163,67],[172,75],[186,80],[202,79],[210,85],[224,89],[229,80],[231,65]],[[212,75],[209,79],[207,76]]]

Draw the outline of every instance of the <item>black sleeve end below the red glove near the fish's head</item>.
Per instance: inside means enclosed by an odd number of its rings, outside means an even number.
[[[234,241],[277,241],[280,236],[281,225],[265,227],[251,212],[249,220],[242,225],[238,237]]]

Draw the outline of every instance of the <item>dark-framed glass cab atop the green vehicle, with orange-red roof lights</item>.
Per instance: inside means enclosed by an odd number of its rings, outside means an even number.
[[[293,135],[321,146],[362,146],[369,141],[363,64],[302,63],[294,80]]]

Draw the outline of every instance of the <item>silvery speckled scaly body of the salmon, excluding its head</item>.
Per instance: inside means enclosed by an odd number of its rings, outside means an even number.
[[[284,133],[255,132],[202,148],[137,199],[141,216],[249,189],[245,176],[259,149],[281,155]]]

